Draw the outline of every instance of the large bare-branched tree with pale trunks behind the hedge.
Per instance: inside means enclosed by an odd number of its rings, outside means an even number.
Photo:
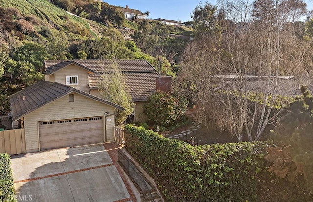
[[[280,76],[301,75],[305,69],[310,45],[277,19],[265,22],[268,29],[254,23],[199,38],[180,63],[176,89],[198,105],[198,119],[228,130],[238,141],[245,135],[260,140],[279,120],[288,101],[280,96],[286,83]]]

